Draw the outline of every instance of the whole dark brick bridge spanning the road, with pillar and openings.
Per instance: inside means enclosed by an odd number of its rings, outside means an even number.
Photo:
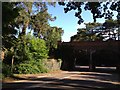
[[[120,41],[59,42],[62,70],[73,70],[75,65],[114,66],[120,69]]]

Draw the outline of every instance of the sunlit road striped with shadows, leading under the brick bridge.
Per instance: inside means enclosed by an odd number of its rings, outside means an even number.
[[[29,75],[27,79],[5,82],[2,90],[120,90],[120,77],[114,70],[60,71]]]

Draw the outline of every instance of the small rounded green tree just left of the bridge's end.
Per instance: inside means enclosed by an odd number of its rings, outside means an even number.
[[[53,55],[55,49],[57,49],[58,41],[61,41],[61,36],[63,35],[62,28],[51,27],[45,34],[44,40],[49,49],[49,55]]]

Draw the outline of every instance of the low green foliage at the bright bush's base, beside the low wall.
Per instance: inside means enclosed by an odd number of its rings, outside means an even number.
[[[43,60],[29,61],[28,63],[21,63],[15,67],[15,73],[18,74],[36,74],[46,73],[47,68],[43,64]]]

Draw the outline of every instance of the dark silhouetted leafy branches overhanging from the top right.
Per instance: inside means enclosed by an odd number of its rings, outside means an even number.
[[[96,22],[97,18],[104,17],[105,19],[112,19],[114,16],[113,11],[118,12],[117,20],[120,22],[120,1],[116,0],[116,2],[58,2],[59,5],[65,6],[64,11],[67,13],[71,10],[76,10],[75,16],[79,18],[78,24],[84,22],[83,18],[81,17],[82,8],[81,6],[84,5],[84,10],[88,10],[93,15],[93,20]],[[112,11],[111,11],[112,10]]]

